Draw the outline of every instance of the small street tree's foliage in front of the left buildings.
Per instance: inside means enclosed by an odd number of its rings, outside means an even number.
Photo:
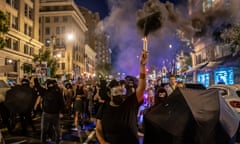
[[[37,62],[37,61],[46,61],[48,67],[50,68],[50,72],[51,72],[51,77],[55,77],[56,76],[56,71],[57,71],[57,61],[56,59],[51,57],[51,51],[50,50],[45,50],[43,53],[41,53],[40,55],[34,55],[33,56],[33,61]]]

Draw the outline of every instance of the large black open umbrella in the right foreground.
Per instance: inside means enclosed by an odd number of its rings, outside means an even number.
[[[225,144],[238,123],[217,90],[178,88],[144,115],[144,144]]]

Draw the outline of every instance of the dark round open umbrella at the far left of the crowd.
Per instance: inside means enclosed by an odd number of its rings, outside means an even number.
[[[22,113],[31,110],[33,100],[33,90],[18,85],[7,91],[4,104],[11,112]]]

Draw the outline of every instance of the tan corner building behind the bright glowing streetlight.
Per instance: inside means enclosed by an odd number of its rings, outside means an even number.
[[[86,20],[74,0],[40,0],[40,41],[58,60],[57,75],[72,79],[85,65]]]

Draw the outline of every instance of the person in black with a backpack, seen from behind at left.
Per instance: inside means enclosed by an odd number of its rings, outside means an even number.
[[[55,142],[60,142],[60,118],[64,112],[64,98],[60,89],[53,80],[47,82],[47,89],[42,95],[42,119],[41,119],[41,142],[46,143],[48,129],[51,128],[55,134]]]

